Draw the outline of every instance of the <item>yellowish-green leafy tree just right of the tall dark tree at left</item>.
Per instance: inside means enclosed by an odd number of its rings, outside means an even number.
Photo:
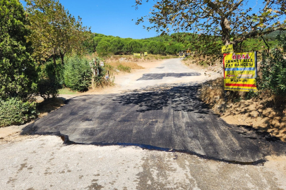
[[[82,53],[85,50],[83,42],[90,38],[90,33],[83,27],[80,17],[76,20],[59,0],[25,1],[32,24],[29,39],[38,61],[46,61],[52,56],[56,66],[56,55],[59,55],[64,65],[66,53]]]

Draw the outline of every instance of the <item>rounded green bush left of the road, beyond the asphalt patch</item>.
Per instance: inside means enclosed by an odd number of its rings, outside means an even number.
[[[74,91],[86,91],[91,84],[91,70],[87,59],[79,56],[66,58],[64,83]]]

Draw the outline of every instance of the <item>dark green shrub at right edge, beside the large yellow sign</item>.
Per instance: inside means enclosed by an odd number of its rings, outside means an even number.
[[[278,36],[279,43],[285,48],[285,35]],[[284,49],[285,50],[285,49]],[[263,52],[261,61],[262,76],[258,79],[259,89],[265,89],[275,95],[286,94],[286,59],[279,46],[270,51]]]

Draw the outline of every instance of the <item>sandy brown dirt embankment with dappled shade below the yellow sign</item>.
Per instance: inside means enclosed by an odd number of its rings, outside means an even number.
[[[286,108],[283,99],[259,94],[253,98],[245,92],[225,94],[223,78],[203,84],[201,99],[227,123],[266,132],[286,141]]]

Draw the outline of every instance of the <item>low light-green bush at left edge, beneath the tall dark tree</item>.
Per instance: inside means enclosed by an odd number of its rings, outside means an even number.
[[[35,103],[18,98],[0,99],[0,127],[23,124],[36,118]]]

